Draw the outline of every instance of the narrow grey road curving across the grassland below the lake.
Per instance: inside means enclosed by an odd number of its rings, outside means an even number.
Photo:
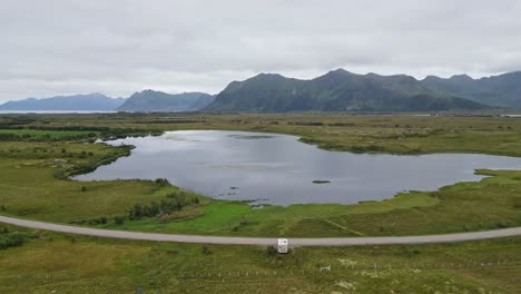
[[[140,239],[157,242],[232,244],[232,245],[275,245],[276,238],[255,237],[219,237],[197,235],[174,235],[157,233],[140,233],[128,231],[99,229],[68,225],[58,225],[43,222],[27,220],[0,216],[0,223],[20,227],[45,229],[68,234],[98,236],[107,238]],[[459,233],[445,235],[424,235],[405,237],[345,237],[345,238],[288,238],[289,246],[352,246],[352,245],[384,245],[384,244],[427,244],[453,243],[464,241],[489,239],[500,237],[521,236],[521,227],[502,228],[485,232]]]

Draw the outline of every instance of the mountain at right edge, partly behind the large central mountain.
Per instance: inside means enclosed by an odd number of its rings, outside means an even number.
[[[421,82],[441,94],[492,106],[521,108],[521,71],[481,79],[472,79],[466,75],[449,79],[429,76]]]

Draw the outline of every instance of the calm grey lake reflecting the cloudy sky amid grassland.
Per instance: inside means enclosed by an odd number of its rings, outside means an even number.
[[[476,168],[521,169],[521,158],[479,154],[370,155],[327,151],[298,137],[181,130],[107,141],[136,148],[78,180],[156,179],[217,199],[255,204],[353,204],[399,192],[479,180]],[[314,180],[331,183],[314,184]]]

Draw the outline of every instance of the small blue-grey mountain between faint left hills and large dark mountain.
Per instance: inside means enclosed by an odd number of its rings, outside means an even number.
[[[204,92],[166,94],[144,90],[130,96],[119,111],[153,112],[153,111],[196,111],[214,101],[214,96]]]

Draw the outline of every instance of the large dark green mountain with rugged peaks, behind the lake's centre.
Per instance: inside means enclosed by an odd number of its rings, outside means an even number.
[[[355,75],[343,69],[312,80],[260,74],[233,81],[205,111],[438,111],[488,106],[425,87],[413,77]]]

